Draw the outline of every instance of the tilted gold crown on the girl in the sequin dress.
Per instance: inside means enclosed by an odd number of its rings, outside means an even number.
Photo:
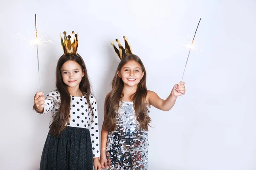
[[[125,56],[127,56],[128,54],[132,54],[131,51],[131,46],[128,43],[128,38],[125,38],[125,36],[123,36],[123,38],[125,39],[125,49],[123,48],[123,46],[120,44],[119,40],[116,39],[116,42],[118,43],[118,47],[119,50],[116,48],[116,46],[114,45],[113,41],[111,41],[111,45],[113,45],[114,50],[116,51],[116,54],[118,55],[118,57],[120,59],[123,59]]]

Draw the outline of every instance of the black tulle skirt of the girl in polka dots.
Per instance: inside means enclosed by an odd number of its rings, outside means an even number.
[[[48,133],[40,170],[93,170],[90,131],[68,126],[59,138]]]

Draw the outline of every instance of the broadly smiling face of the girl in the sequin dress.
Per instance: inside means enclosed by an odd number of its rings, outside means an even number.
[[[137,86],[140,80],[143,78],[144,71],[142,71],[142,68],[138,62],[131,60],[123,65],[117,74],[120,78],[122,78],[124,85]]]

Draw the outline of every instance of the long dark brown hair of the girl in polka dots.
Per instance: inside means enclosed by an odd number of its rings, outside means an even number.
[[[81,66],[82,71],[84,70],[84,77],[82,77],[81,79],[79,89],[81,92],[86,93],[86,95],[84,96],[88,101],[87,103],[93,115],[93,110],[91,109],[92,107],[89,102],[91,87],[84,60],[79,54],[62,55],[58,59],[58,63],[56,66],[56,88],[61,96],[61,105],[59,111],[52,116],[52,123],[49,126],[50,132],[53,136],[60,136],[61,132],[67,127],[67,124],[69,122],[71,98],[70,94],[68,93],[67,85],[63,82],[61,75],[61,67],[67,61],[77,62]]]

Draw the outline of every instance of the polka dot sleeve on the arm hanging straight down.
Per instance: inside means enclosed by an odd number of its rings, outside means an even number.
[[[92,140],[93,147],[93,158],[100,156],[99,149],[99,125],[98,125],[98,110],[97,110],[97,102],[94,96],[90,96],[90,104],[92,106],[93,114],[91,114],[92,121],[90,122],[90,137]]]

